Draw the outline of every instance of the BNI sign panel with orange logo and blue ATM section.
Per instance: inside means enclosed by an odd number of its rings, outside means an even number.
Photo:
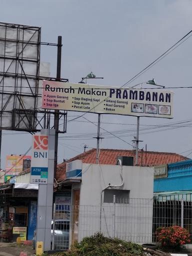
[[[48,136],[32,136],[31,183],[47,183],[48,178]]]

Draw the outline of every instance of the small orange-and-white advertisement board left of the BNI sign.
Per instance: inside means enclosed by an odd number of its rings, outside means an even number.
[[[7,155],[5,172],[6,175],[15,175],[22,171],[23,160],[31,159],[30,155]]]

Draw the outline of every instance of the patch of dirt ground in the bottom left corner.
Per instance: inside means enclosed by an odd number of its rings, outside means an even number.
[[[19,256],[24,251],[27,256],[34,256],[35,250],[32,245],[17,244],[16,242],[0,242],[0,256]]]

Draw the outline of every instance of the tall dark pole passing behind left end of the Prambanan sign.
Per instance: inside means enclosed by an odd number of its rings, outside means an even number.
[[[60,80],[61,70],[61,47],[62,36],[57,39],[57,65],[56,65],[56,80]],[[57,165],[57,150],[58,150],[58,125],[59,125],[59,110],[54,110],[54,129],[55,129],[55,145],[54,145],[54,178],[56,178],[56,165]]]

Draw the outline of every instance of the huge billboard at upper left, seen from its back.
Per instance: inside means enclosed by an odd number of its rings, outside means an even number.
[[[0,127],[35,129],[40,27],[0,22]],[[15,77],[17,77],[15,79]],[[8,87],[7,87],[8,85]],[[31,96],[32,95],[32,96]]]

